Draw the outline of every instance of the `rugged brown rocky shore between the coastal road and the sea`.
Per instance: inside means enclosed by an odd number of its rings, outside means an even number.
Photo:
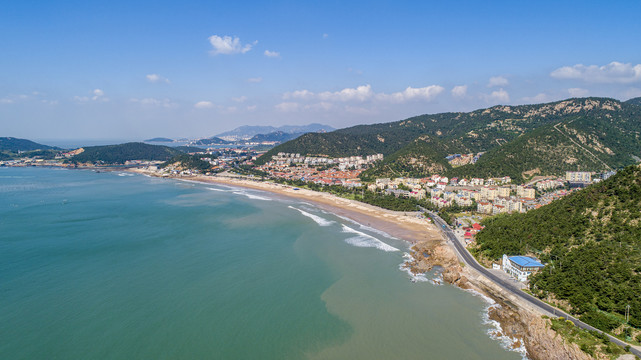
[[[550,328],[549,320],[541,318],[532,309],[519,307],[500,288],[484,277],[476,277],[461,267],[459,260],[446,243],[426,241],[412,247],[408,265],[414,273],[424,273],[434,266],[443,267],[443,280],[463,289],[473,289],[493,299],[498,306],[492,306],[489,317],[501,324],[501,333],[513,340],[514,346],[524,345],[532,360],[589,360],[588,354],[576,344],[566,343]]]

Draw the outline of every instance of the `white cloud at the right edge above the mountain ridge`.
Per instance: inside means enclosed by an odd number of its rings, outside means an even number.
[[[607,65],[564,66],[550,73],[556,79],[574,79],[592,83],[630,84],[641,81],[641,64],[613,61]]]

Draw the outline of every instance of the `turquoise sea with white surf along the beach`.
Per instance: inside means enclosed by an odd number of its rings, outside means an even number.
[[[524,357],[408,249],[267,192],[0,168],[0,358]]]

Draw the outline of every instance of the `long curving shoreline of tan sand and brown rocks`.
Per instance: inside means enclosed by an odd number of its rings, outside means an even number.
[[[161,177],[154,171],[130,168],[125,171]],[[397,212],[349,200],[333,194],[298,189],[289,185],[258,182],[232,176],[170,176],[168,179],[188,180],[204,184],[217,184],[269,192],[276,196],[305,200],[360,224],[370,226],[408,243],[411,260],[402,266],[419,275],[435,266],[443,268],[444,282],[481,296],[488,304],[486,313],[494,330],[488,335],[499,341],[509,351],[520,353],[528,359],[591,359],[576,344],[567,344],[548,326],[539,309],[519,298],[507,294],[491,280],[460,262],[453,246],[449,244],[436,225],[416,215],[418,212]],[[295,190],[296,189],[296,190]]]

